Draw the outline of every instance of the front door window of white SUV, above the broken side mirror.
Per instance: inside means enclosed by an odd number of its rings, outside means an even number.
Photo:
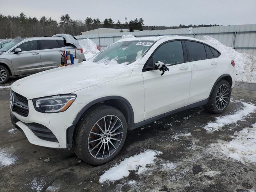
[[[181,41],[171,41],[160,46],[153,55],[153,63],[160,61],[164,64],[184,62]]]

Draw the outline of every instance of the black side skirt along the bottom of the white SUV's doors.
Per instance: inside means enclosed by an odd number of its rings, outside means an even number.
[[[182,108],[178,108],[178,109],[169,111],[169,112],[167,112],[167,113],[164,113],[164,114],[161,114],[161,115],[158,115],[158,116],[155,116],[155,117],[146,119],[146,120],[144,120],[144,121],[135,123],[135,124],[133,125],[133,127],[130,128],[130,130],[133,130],[133,129],[138,128],[138,127],[140,127],[140,126],[144,126],[144,125],[146,125],[146,124],[149,124],[149,123],[151,123],[151,122],[154,122],[155,120],[158,120],[158,119],[160,119],[160,118],[164,118],[164,117],[169,116],[169,115],[172,115],[172,114],[174,114],[174,113],[178,113],[178,112],[181,112],[181,111],[190,109],[190,108],[200,107],[200,106],[202,106],[202,105],[205,105],[205,104],[208,102],[208,100],[209,100],[209,98],[207,98],[206,100],[202,100],[202,101],[199,101],[199,102],[190,104],[190,105],[188,105],[188,106],[184,106],[184,107],[182,107]]]

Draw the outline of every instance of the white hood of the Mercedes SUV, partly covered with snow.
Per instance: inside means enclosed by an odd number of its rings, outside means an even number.
[[[129,65],[105,65],[82,62],[27,76],[14,82],[11,89],[28,100],[44,96],[69,94],[90,86],[97,86],[132,73]]]

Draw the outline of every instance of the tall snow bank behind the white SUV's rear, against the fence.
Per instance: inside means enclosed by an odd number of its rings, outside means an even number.
[[[221,44],[218,40],[210,36],[204,36],[202,40],[235,61],[236,70],[238,72],[237,81],[256,83],[256,56],[246,53],[238,53],[232,47]]]

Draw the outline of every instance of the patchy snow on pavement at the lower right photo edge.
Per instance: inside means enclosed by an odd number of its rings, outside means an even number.
[[[256,163],[256,123],[236,132],[230,142],[219,140],[212,150],[242,163]]]

